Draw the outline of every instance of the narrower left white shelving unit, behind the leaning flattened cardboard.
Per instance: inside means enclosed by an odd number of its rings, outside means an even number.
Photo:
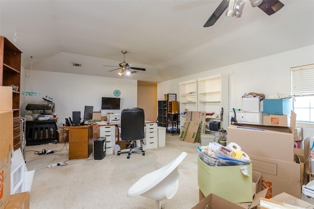
[[[182,132],[186,116],[182,113],[187,111],[197,111],[197,80],[189,80],[179,83],[180,87],[180,129]]]

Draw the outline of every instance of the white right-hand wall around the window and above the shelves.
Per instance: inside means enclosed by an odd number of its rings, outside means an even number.
[[[254,51],[252,51],[254,53]],[[226,58],[228,59],[228,57]],[[229,109],[242,109],[244,93],[264,93],[267,98],[274,93],[290,94],[290,68],[314,63],[314,45],[291,51],[237,63],[219,69],[208,70],[190,76],[158,83],[157,97],[163,100],[163,94],[177,93],[179,82],[202,78],[215,74],[229,74]],[[261,102],[262,111],[262,102]],[[304,127],[304,137],[314,136],[314,128]],[[311,145],[313,139],[311,140]]]

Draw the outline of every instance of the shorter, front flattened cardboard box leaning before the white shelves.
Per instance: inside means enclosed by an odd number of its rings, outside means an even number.
[[[198,136],[200,123],[196,121],[184,121],[182,133],[180,135],[181,141],[194,143]]]

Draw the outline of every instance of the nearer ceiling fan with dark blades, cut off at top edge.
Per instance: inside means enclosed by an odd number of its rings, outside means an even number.
[[[279,11],[284,4],[279,0],[250,0],[252,7],[259,7],[267,15],[272,15]],[[245,0],[222,0],[214,13],[210,16],[209,20],[204,24],[204,27],[212,26],[222,13],[228,8],[226,16],[239,18],[242,15]]]

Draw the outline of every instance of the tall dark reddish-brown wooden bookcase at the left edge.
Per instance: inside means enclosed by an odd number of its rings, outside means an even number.
[[[21,83],[21,56],[22,52],[7,38],[0,36],[0,86],[14,85],[18,89],[12,91],[13,120],[19,121],[16,130],[21,127],[20,121],[20,83]],[[13,123],[13,121],[12,121]],[[14,132],[14,150],[20,148],[20,131]]]

